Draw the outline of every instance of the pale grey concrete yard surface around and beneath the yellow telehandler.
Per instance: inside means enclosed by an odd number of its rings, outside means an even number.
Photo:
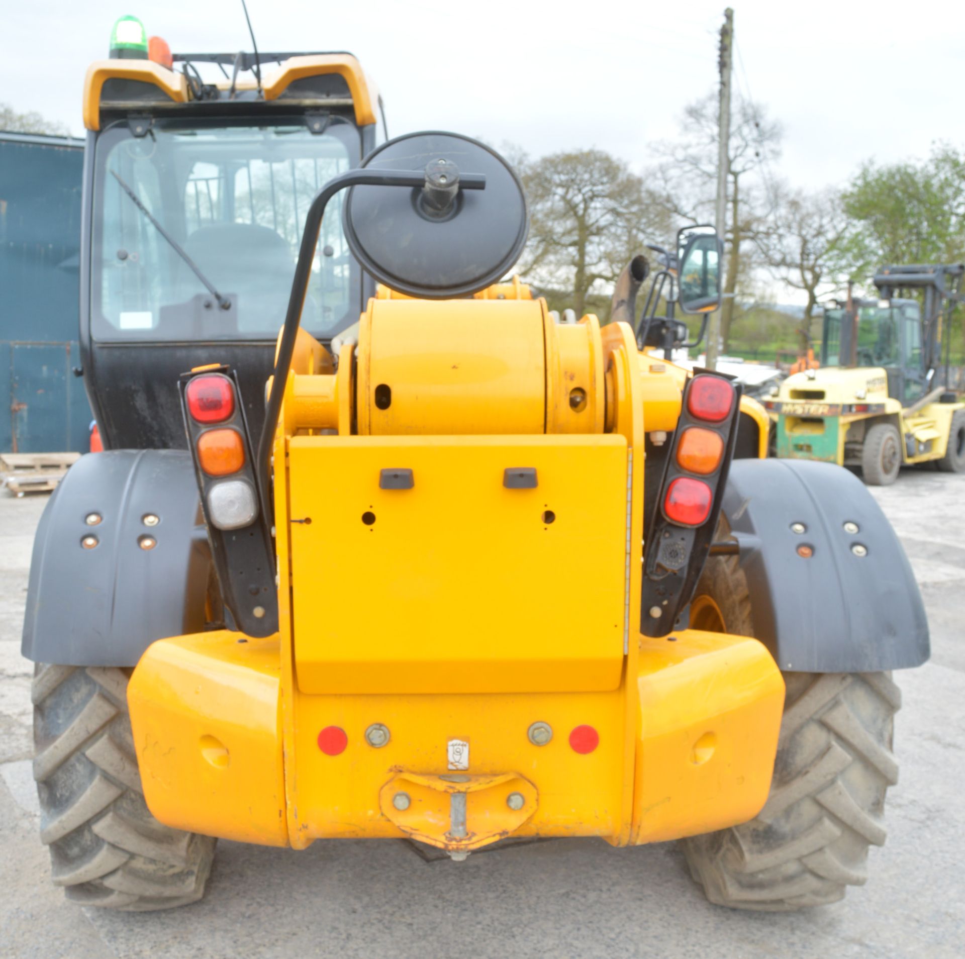
[[[20,626],[45,498],[0,491],[0,956],[921,957],[965,954],[965,476],[872,489],[921,584],[932,660],[896,673],[900,781],[888,841],[843,902],[797,914],[709,905],[675,843],[546,840],[424,858],[400,840],[304,852],[221,842],[207,897],[168,913],[82,910],[50,884],[31,775]]]

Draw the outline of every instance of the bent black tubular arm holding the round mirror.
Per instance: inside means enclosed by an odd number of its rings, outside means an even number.
[[[349,186],[408,186],[410,188],[425,187],[427,172],[425,170],[369,170],[357,168],[348,170],[338,177],[331,178],[317,193],[312,206],[305,217],[305,229],[302,232],[301,246],[298,250],[298,262],[295,265],[295,276],[291,282],[289,309],[285,315],[282,336],[278,344],[278,356],[275,359],[274,379],[271,383],[271,394],[268,397],[264,412],[264,426],[258,441],[258,452],[255,454],[258,473],[258,495],[262,507],[262,515],[271,517],[271,446],[278,426],[278,417],[282,410],[282,398],[285,396],[285,386],[291,369],[291,356],[294,353],[295,339],[301,324],[302,308],[305,305],[305,295],[308,292],[309,280],[312,277],[312,261],[315,260],[315,248],[318,243],[318,232],[321,220],[325,215],[328,202],[340,190]],[[482,174],[459,174],[459,188],[464,190],[484,190],[485,177]]]

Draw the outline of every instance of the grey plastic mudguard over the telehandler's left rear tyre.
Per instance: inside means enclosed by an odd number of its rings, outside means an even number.
[[[102,517],[94,526],[86,517]],[[144,516],[159,518],[146,526]],[[85,536],[97,537],[85,549]],[[142,536],[156,545],[142,549]],[[136,666],[154,640],[205,627],[210,551],[191,454],[82,456],[34,540],[23,655],[66,666]]]

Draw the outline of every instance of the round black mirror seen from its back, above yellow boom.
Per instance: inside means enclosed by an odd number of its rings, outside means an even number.
[[[496,151],[456,133],[410,133],[372,151],[362,167],[425,172],[426,184],[353,186],[345,238],[379,283],[422,299],[467,296],[501,280],[529,232],[519,179]],[[459,178],[485,178],[463,189]]]

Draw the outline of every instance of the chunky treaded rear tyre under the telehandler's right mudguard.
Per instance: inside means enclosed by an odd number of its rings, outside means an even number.
[[[710,627],[717,611],[717,628],[754,635],[736,557],[711,557],[697,595],[699,628]],[[865,883],[869,847],[885,841],[901,704],[891,675],[786,672],[784,678],[784,718],[764,808],[750,822],[682,841],[691,875],[717,905],[779,912],[836,902],[848,886]]]

